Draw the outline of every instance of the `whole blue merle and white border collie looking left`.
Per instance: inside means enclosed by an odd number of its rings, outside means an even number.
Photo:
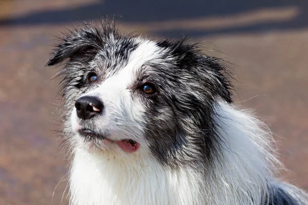
[[[63,62],[71,205],[308,204],[275,178],[271,132],[233,103],[224,61],[198,44],[104,20],[61,38],[47,66]]]

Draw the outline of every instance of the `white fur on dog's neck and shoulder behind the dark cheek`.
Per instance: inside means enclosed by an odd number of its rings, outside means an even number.
[[[222,142],[222,156],[215,165],[207,204],[262,204],[267,191],[266,180],[280,165],[274,155],[271,132],[248,111],[220,103],[215,121]],[[263,196],[263,197],[260,197]]]

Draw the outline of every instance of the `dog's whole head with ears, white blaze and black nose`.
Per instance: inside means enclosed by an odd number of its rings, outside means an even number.
[[[220,59],[185,40],[153,42],[104,24],[65,36],[47,63],[67,60],[59,75],[70,143],[123,157],[148,154],[171,167],[210,161],[213,107],[232,102]]]

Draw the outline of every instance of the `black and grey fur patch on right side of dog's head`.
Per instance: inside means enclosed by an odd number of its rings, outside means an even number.
[[[163,165],[202,170],[198,166],[213,162],[220,149],[213,106],[219,98],[232,103],[232,86],[220,59],[202,55],[196,44],[181,39],[163,40],[157,46],[163,48],[159,63],[146,63],[150,71],[139,74],[150,72],[145,81],[159,90],[145,100],[145,137]]]

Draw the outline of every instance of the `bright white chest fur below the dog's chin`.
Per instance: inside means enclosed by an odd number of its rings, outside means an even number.
[[[131,154],[75,152],[70,173],[71,205],[200,204],[192,171],[172,172],[157,160]],[[201,199],[200,199],[201,200]]]

